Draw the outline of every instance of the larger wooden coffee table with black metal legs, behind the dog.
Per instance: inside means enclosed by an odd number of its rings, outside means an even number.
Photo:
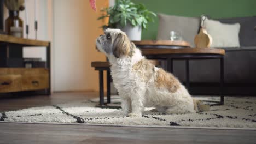
[[[146,43],[148,42],[148,43]],[[224,55],[225,50],[223,49],[212,49],[212,48],[191,48],[184,43],[181,45],[173,45],[174,43],[169,43],[168,41],[141,41],[135,42],[136,46],[141,48],[142,54],[148,59],[159,59],[167,61],[167,70],[172,73],[173,71],[173,61],[176,59],[186,61],[186,87],[189,91],[190,88],[190,78],[189,78],[189,60],[190,59],[220,59],[220,101],[210,101],[217,104],[224,104]],[[174,49],[170,49],[174,46]],[[147,48],[146,48],[147,47]],[[167,48],[170,47],[170,48]],[[178,47],[178,48],[177,48]],[[187,47],[187,48],[184,48]],[[176,48],[176,49],[175,49]]]

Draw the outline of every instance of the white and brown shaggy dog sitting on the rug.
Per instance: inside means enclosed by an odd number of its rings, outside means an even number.
[[[142,116],[144,107],[170,114],[202,109],[176,77],[150,63],[120,29],[106,29],[96,39],[96,48],[109,59],[124,115]]]

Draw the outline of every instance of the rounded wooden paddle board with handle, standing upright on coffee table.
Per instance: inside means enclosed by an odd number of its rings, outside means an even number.
[[[212,44],[212,37],[209,35],[204,27],[204,21],[206,20],[206,16],[201,16],[201,27],[199,34],[195,36],[194,42],[196,48],[209,48]]]

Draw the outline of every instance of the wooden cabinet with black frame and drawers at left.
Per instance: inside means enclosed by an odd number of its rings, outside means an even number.
[[[12,56],[16,58],[17,53],[22,51],[24,46],[34,47],[35,49],[46,48],[45,68],[20,68],[20,66],[19,68],[11,68],[12,66],[10,65],[4,66],[8,62],[8,58],[10,59]],[[4,63],[0,65],[0,93],[46,89],[46,94],[51,94],[49,41],[24,39],[0,34],[0,49],[2,50],[0,52],[0,64],[1,62]],[[11,55],[12,52],[14,55]]]

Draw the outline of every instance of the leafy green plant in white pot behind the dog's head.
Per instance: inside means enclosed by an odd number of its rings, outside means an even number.
[[[145,8],[143,4],[135,4],[130,0],[117,0],[113,7],[101,10],[105,14],[98,20],[109,18],[108,25],[103,28],[119,28],[130,40],[141,40],[141,30],[147,29],[148,22],[154,21],[155,13]]]

